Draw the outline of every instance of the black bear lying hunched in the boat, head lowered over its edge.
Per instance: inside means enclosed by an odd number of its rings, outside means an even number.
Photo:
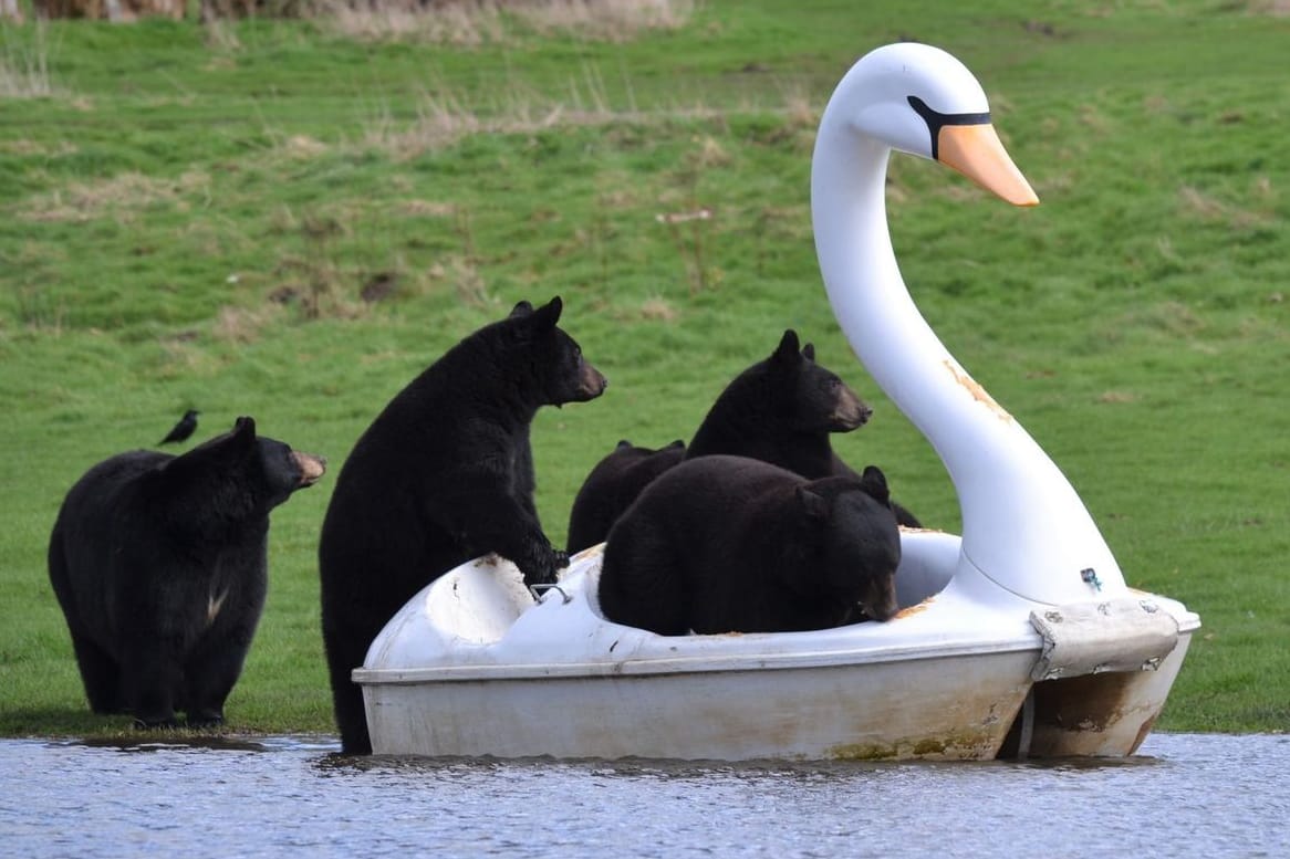
[[[824,629],[897,613],[886,479],[806,480],[746,457],[688,459],[614,524],[597,596],[659,635]]]

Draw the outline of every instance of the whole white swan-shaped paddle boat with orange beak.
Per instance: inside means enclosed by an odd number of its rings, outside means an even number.
[[[1071,484],[946,351],[888,232],[893,150],[1038,200],[952,55],[862,57],[820,120],[811,219],[857,356],[944,462],[962,535],[902,531],[886,623],[658,636],[606,620],[602,546],[530,592],[488,556],[413,597],[353,671],[373,751],[414,756],[988,760],[1125,756],[1200,618],[1125,584]]]

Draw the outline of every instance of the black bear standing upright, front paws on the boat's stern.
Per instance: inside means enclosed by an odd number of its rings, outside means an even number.
[[[341,745],[372,751],[351,671],[417,591],[495,552],[528,584],[568,565],[534,507],[529,430],[544,405],[600,396],[605,377],[556,326],[560,298],[466,337],[413,379],[341,469],[319,543],[322,638]]]

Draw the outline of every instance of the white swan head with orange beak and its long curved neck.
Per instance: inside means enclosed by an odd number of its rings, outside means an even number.
[[[995,133],[980,84],[938,48],[866,54],[824,108],[811,160],[820,273],[851,348],[949,472],[964,520],[960,571],[1036,602],[1122,589],[1075,489],[913,304],[888,231],[893,151],[946,164],[1015,205],[1038,199]],[[935,259],[934,245],[915,250]]]

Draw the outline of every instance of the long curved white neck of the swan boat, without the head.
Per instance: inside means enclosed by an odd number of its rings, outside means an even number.
[[[888,230],[891,150],[849,125],[840,95],[845,106],[840,88],[811,166],[820,273],[853,351],[949,472],[964,520],[961,564],[1036,602],[1122,591],[1120,568],[1075,489],[913,304]]]

